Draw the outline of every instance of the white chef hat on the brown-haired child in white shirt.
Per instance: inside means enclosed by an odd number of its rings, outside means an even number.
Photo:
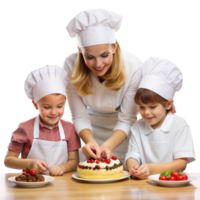
[[[150,57],[145,60],[139,88],[149,89],[164,99],[174,99],[183,86],[181,70],[165,58]]]

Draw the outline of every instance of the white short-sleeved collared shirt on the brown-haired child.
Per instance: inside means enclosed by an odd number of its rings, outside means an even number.
[[[172,162],[178,158],[187,158],[187,163],[194,162],[194,145],[188,123],[171,112],[156,130],[144,119],[138,120],[131,127],[125,161],[131,157],[140,164]]]

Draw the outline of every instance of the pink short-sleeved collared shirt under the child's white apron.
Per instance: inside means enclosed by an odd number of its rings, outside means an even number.
[[[27,158],[33,143],[33,129],[35,117],[26,121],[20,122],[11,134],[10,142],[8,143],[8,150],[21,154],[21,158]],[[40,121],[40,120],[39,120]],[[81,147],[81,141],[76,134],[72,122],[60,119],[64,133],[65,141],[67,142],[67,150],[73,151]],[[58,122],[50,129],[40,121],[39,139],[48,141],[60,141],[60,133]]]

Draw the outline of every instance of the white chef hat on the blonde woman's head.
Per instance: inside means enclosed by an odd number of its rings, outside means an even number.
[[[80,48],[114,44],[122,18],[122,15],[103,8],[86,9],[71,18],[65,30],[71,38],[76,35],[76,43]]]

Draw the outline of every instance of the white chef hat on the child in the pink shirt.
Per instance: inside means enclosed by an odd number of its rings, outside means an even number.
[[[49,64],[28,73],[24,80],[24,92],[37,103],[42,97],[58,93],[66,97],[67,72],[59,65]]]

